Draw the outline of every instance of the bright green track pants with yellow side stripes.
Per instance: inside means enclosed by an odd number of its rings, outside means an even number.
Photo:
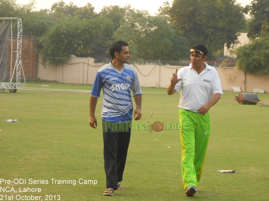
[[[195,187],[201,178],[210,133],[209,112],[204,116],[179,109],[179,122],[186,122],[186,130],[180,131],[181,172],[184,188]]]

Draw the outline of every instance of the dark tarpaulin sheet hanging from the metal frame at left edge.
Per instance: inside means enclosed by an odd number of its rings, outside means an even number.
[[[0,23],[0,81],[8,78],[8,36],[11,21]]]

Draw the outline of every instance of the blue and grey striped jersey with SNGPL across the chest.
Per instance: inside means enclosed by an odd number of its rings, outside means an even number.
[[[123,64],[123,69],[114,69],[111,63],[97,71],[91,96],[100,97],[103,88],[102,120],[110,122],[132,121],[133,96],[142,95],[134,67]]]

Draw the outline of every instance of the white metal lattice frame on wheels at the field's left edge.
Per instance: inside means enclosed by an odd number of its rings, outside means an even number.
[[[17,50],[13,51],[13,38],[12,38],[12,20],[17,19],[18,21],[18,34],[17,34]],[[17,17],[11,17],[11,18],[0,18],[0,20],[11,20],[11,64],[10,64],[10,82],[9,83],[0,83],[0,90],[5,90],[9,89],[10,92],[15,93],[17,89],[25,89],[26,88],[26,82],[25,82],[25,76],[23,72],[23,67],[22,67],[22,61],[21,61],[21,55],[22,55],[22,19],[17,18]],[[16,57],[16,62],[13,68],[13,73],[12,72],[12,54],[13,52],[16,52],[17,57]],[[16,69],[16,83],[12,83],[13,75]],[[21,78],[21,71],[22,75],[24,78],[24,83],[20,83],[20,78]]]

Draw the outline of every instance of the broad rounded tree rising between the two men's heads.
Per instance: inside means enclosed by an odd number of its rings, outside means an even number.
[[[175,61],[189,56],[188,40],[177,35],[163,17],[137,10],[120,23],[113,38],[129,42],[134,59]]]

